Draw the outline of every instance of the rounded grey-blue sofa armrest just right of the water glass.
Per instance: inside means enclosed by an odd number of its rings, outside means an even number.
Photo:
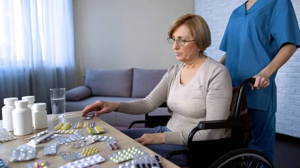
[[[91,96],[91,90],[85,86],[78,86],[65,92],[65,101],[79,101]]]

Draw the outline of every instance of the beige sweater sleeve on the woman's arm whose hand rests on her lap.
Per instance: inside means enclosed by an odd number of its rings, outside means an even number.
[[[230,115],[232,83],[225,66],[219,65],[208,80],[205,121],[227,120]],[[191,130],[190,130],[191,131]],[[165,144],[187,145],[189,132],[165,132]],[[226,136],[226,129],[200,130],[193,141],[216,140]]]

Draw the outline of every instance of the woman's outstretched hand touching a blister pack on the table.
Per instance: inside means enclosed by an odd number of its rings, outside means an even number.
[[[110,102],[104,102],[104,101],[98,100],[92,105],[87,105],[83,109],[81,116],[83,117],[89,112],[96,111],[95,116],[98,117],[101,114],[116,111],[118,108],[119,108],[119,104],[117,102],[110,103]]]

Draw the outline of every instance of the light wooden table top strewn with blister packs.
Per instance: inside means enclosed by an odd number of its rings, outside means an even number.
[[[26,164],[34,163],[35,161],[38,161],[38,160],[44,160],[48,164],[48,168],[58,168],[69,162],[73,162],[73,161],[64,161],[61,158],[61,156],[59,155],[59,152],[61,152],[61,151],[75,152],[75,151],[80,151],[80,150],[83,150],[86,148],[93,147],[93,148],[97,148],[99,150],[99,152],[97,153],[98,155],[105,158],[105,161],[100,163],[100,165],[99,165],[100,168],[114,168],[115,166],[117,166],[119,164],[115,164],[115,163],[109,161],[107,159],[107,155],[121,151],[123,149],[130,148],[130,147],[139,147],[148,154],[155,154],[151,150],[140,145],[136,141],[127,137],[126,135],[124,135],[117,129],[113,128],[112,126],[108,125],[104,121],[100,120],[99,118],[93,117],[91,120],[82,120],[80,114],[81,114],[81,111],[70,112],[70,113],[66,113],[66,116],[64,118],[53,118],[52,115],[48,115],[47,116],[48,128],[40,129],[40,130],[33,129],[33,134],[30,134],[27,136],[15,136],[17,138],[16,140],[0,143],[0,158],[3,159],[6,164],[8,164],[9,168],[24,168]],[[10,150],[19,145],[28,143],[29,140],[24,141],[25,138],[31,137],[32,135],[37,134],[41,131],[45,131],[45,130],[53,131],[53,128],[59,123],[70,122],[70,123],[72,123],[72,127],[70,129],[74,129],[73,123],[78,122],[78,121],[94,121],[94,126],[101,126],[105,130],[105,133],[101,134],[101,135],[116,137],[117,143],[121,149],[116,150],[116,151],[110,151],[104,142],[95,142],[89,146],[82,147],[79,149],[70,148],[64,144],[63,145],[56,144],[56,155],[55,156],[44,156],[43,155],[44,146],[55,143],[55,140],[51,140],[49,142],[36,145],[35,160],[22,161],[22,162],[9,162]],[[2,129],[2,121],[0,121],[0,129]],[[86,133],[86,131],[84,129],[78,129],[78,130],[82,130],[82,132],[81,132],[82,136],[84,136],[84,137],[88,136],[88,134]],[[13,132],[10,132],[10,133],[13,135]],[[68,135],[68,134],[61,134],[61,136],[66,136],[66,135]],[[162,157],[160,157],[160,160],[161,160],[164,168],[179,168],[176,165],[172,164],[171,162],[169,162],[168,160],[166,160]]]

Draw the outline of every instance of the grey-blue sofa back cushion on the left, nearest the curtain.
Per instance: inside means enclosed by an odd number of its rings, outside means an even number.
[[[88,69],[84,86],[92,96],[131,97],[133,69]]]

